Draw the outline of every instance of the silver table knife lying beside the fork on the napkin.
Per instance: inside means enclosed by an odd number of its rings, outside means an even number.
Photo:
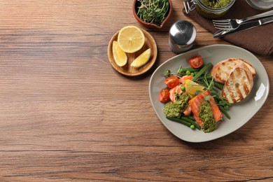
[[[242,23],[237,29],[221,29],[221,30],[218,30],[214,33],[214,38],[218,38],[218,37],[221,37],[221,36],[226,36],[228,34],[234,34],[236,32],[239,32],[239,31],[244,31],[246,29],[252,29],[254,27],[258,27],[260,25],[265,25],[269,22],[273,22],[273,16],[270,16],[268,18],[262,18],[260,20],[255,20],[255,21],[252,21],[252,22],[245,22],[245,23]]]

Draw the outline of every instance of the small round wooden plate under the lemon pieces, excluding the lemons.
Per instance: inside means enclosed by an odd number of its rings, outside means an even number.
[[[155,43],[155,40],[153,39],[153,36],[151,36],[151,34],[149,34],[148,31],[145,31],[144,29],[141,29],[141,30],[143,31],[145,36],[144,46],[137,52],[126,53],[127,64],[125,64],[125,66],[118,66],[118,64],[116,64],[116,61],[113,57],[113,41],[118,40],[119,31],[113,35],[113,37],[111,38],[111,41],[109,42],[109,45],[108,45],[109,62],[111,63],[113,68],[116,69],[116,71],[118,71],[119,73],[122,73],[125,76],[139,76],[143,73],[146,73],[146,71],[151,69],[153,64],[155,64],[155,59],[158,56],[158,48]],[[139,55],[141,55],[142,52],[144,52],[148,48],[151,48],[151,57],[148,60],[148,62],[144,64],[144,66],[141,66],[140,68],[133,68],[132,66],[130,66],[131,63],[134,61],[134,59],[136,59]]]

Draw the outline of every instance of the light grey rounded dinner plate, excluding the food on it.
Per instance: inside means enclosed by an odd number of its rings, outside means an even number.
[[[228,59],[231,57],[241,58],[251,63],[256,70],[256,76],[254,78],[251,93],[242,102],[233,104],[228,111],[231,119],[229,120],[223,116],[223,121],[219,123],[217,130],[210,133],[204,133],[202,130],[191,130],[185,125],[167,120],[163,111],[164,104],[158,100],[160,90],[165,87],[165,71],[169,69],[172,72],[176,72],[178,71],[179,66],[190,67],[188,64],[188,59],[195,55],[201,55],[205,64],[208,62],[216,64],[223,59]],[[211,141],[238,130],[241,126],[246,124],[248,120],[255,115],[255,113],[259,111],[259,109],[265,103],[268,94],[269,80],[267,72],[264,66],[262,66],[260,60],[251,52],[234,45],[208,45],[206,47],[190,50],[186,53],[182,53],[181,55],[172,57],[155,70],[149,83],[151,104],[153,105],[153,109],[155,110],[158,118],[160,118],[163,125],[165,125],[165,127],[167,127],[172,134],[179,137],[179,139],[190,142]]]

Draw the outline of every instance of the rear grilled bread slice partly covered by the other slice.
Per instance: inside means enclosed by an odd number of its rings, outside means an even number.
[[[237,64],[241,63],[244,63],[246,66],[248,66],[248,69],[251,71],[253,77],[256,75],[254,67],[250,63],[244,61],[244,59],[239,58],[230,58],[218,62],[211,69],[211,75],[214,77],[214,80],[224,84],[225,81],[228,80],[228,76],[230,75],[232,69],[234,69]]]

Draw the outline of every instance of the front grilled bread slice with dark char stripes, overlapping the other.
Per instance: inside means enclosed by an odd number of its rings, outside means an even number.
[[[231,104],[241,102],[251,92],[252,87],[253,74],[246,64],[240,63],[232,69],[221,96]]]

